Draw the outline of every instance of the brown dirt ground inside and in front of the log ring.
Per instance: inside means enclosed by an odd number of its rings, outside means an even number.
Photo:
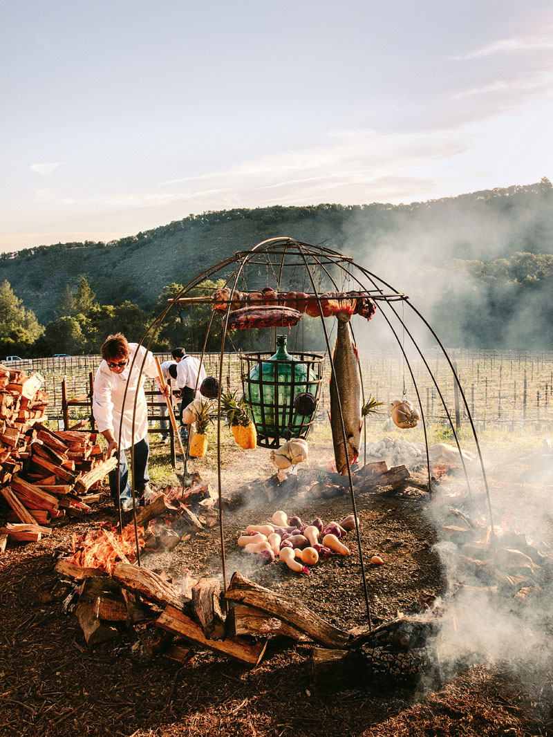
[[[225,465],[227,486],[270,473],[266,464],[260,469],[254,454],[240,453]],[[198,463],[198,469],[214,481],[212,461]],[[412,487],[357,497],[373,625],[398,611],[416,612],[421,592],[445,590],[445,573],[433,549],[437,532],[426,514],[429,503],[428,494]],[[342,629],[366,624],[355,538],[348,541],[352,556],[327,559],[308,576],[297,576],[279,562],[257,567],[238,551],[235,540],[246,525],[268,520],[276,509],[306,522],[313,517],[328,522],[349,514],[352,502],[349,496],[297,497],[274,506],[253,499],[226,511],[227,578],[240,570]],[[442,685],[426,687],[384,685],[362,674],[338,686],[313,684],[309,648],[282,640],[271,641],[257,668],[205,650],[185,665],[161,656],[137,660],[132,651],[136,634],[128,629],[120,639],[88,649],[77,619],[65,615],[59,601],[41,603],[38,592],[57,579],[55,561],[69,551],[72,534],[101,520],[115,523],[107,497],[92,514],[58,526],[51,537],[12,546],[0,556],[1,737],[553,735],[551,663],[539,669],[528,663],[518,676],[508,668],[476,663]],[[373,553],[385,565],[367,565]],[[146,554],[142,562],[163,568],[174,581],[184,570],[217,576],[219,527],[195,535],[172,553]]]

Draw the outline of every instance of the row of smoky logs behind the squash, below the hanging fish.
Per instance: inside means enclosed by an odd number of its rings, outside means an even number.
[[[395,489],[403,483],[413,483],[413,481],[406,466],[390,468],[386,461],[376,461],[355,469],[352,472],[352,483],[355,492],[363,494],[374,491],[378,486],[389,486]],[[419,484],[414,485],[420,488]],[[244,484],[232,495],[227,495],[224,501],[229,509],[234,509],[254,496],[271,503],[299,495],[315,500],[332,499],[347,494],[349,494],[347,475],[313,467],[298,469],[297,472],[289,472],[287,469],[273,474],[266,480],[258,479]]]

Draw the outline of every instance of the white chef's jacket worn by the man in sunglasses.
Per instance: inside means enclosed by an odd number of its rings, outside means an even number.
[[[138,343],[129,343],[129,348],[131,349],[131,356],[122,374],[115,374],[114,371],[110,371],[108,364],[105,363],[105,360],[102,360],[94,377],[94,395],[92,397],[92,413],[94,414],[94,420],[100,433],[104,432],[104,430],[113,430],[116,441],[119,441],[119,427],[122,426],[119,450],[130,448],[131,445],[145,439],[148,429],[146,395],[144,393],[145,378],[158,377],[153,354],[150,351],[146,351],[144,346],[139,347]],[[131,371],[131,363],[133,363],[135,353],[137,353],[136,360]],[[143,373],[139,377],[140,367],[142,366],[142,360],[145,354],[146,360]],[[123,397],[127,385],[128,391],[125,397],[125,412],[121,419]],[[135,397],[136,416],[133,439]]]

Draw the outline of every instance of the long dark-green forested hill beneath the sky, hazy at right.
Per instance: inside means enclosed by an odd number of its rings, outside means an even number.
[[[491,261],[515,252],[553,253],[553,189],[528,186],[473,192],[408,205],[273,206],[206,212],[109,243],[58,243],[0,255],[4,279],[45,324],[66,285],[86,278],[102,304],[128,300],[150,310],[162,288],[186,284],[210,265],[271,237],[324,243],[383,278],[406,263]],[[401,282],[399,282],[401,286]]]

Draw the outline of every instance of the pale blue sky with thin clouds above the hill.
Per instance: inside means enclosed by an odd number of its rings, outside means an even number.
[[[0,251],[553,178],[549,0],[0,0]]]

